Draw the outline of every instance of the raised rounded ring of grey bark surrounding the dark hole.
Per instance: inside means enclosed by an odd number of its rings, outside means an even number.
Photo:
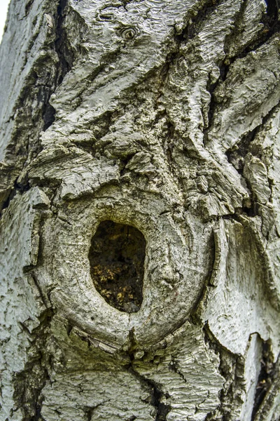
[[[176,222],[171,213],[162,213],[166,205],[165,199],[148,194],[141,193],[136,200],[119,192],[115,198],[64,203],[63,213],[46,222],[48,258],[38,267],[38,279],[62,317],[91,338],[117,348],[127,342],[132,329],[139,347],[146,347],[186,321],[209,273],[212,228],[187,215],[186,235],[186,220]],[[92,283],[88,254],[103,220],[132,225],[145,236],[143,302],[137,313],[111,307]]]

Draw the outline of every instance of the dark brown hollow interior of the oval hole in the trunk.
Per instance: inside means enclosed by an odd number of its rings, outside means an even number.
[[[143,300],[146,241],[139,229],[103,221],[92,237],[90,275],[100,295],[116,309],[138,312]]]

